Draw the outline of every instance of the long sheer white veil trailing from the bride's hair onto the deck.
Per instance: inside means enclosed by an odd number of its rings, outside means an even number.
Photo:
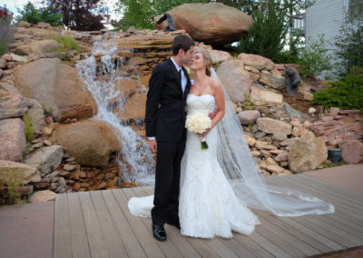
[[[211,77],[221,83],[211,68]],[[270,211],[278,216],[334,213],[334,205],[297,190],[270,186],[250,154],[240,120],[221,83],[225,96],[225,114],[218,129],[218,162],[241,203]]]

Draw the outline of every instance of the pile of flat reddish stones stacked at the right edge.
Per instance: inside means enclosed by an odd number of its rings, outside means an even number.
[[[337,148],[346,140],[362,140],[362,119],[360,110],[331,107],[329,114],[320,117],[310,129],[316,136],[321,136],[329,148]]]

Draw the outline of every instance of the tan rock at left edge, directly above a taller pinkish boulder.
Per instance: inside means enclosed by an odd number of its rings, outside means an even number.
[[[13,85],[0,82],[0,120],[22,116],[31,105]]]

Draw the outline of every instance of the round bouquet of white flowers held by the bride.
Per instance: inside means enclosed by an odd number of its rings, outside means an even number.
[[[201,134],[211,128],[211,118],[201,112],[188,114],[185,121],[185,128],[191,133]],[[208,144],[204,138],[201,139],[201,149],[208,149]]]

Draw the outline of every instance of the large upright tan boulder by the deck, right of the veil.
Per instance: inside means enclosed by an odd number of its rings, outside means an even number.
[[[322,138],[316,138],[304,130],[289,151],[289,169],[301,173],[316,169],[328,158],[328,150]]]

